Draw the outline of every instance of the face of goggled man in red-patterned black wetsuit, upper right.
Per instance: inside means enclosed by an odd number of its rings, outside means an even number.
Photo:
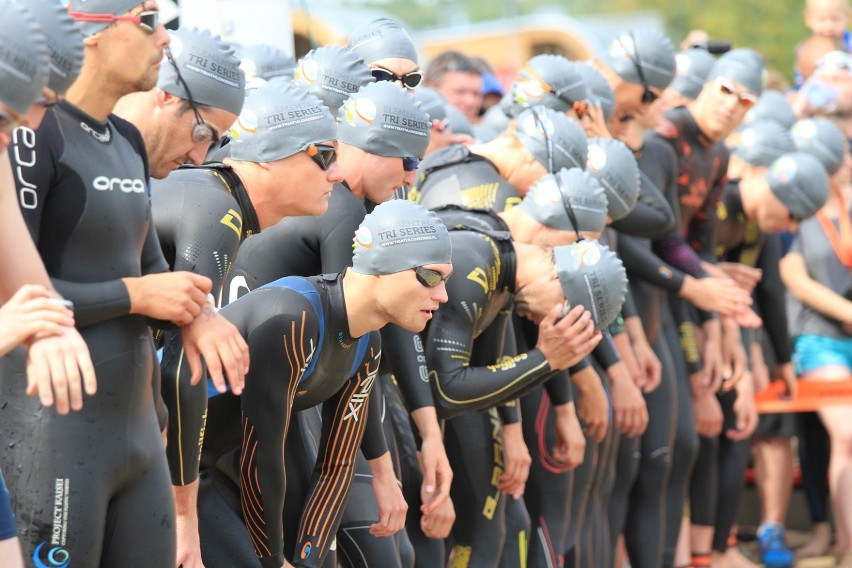
[[[722,140],[743,121],[757,97],[739,83],[719,77],[708,81],[689,105],[701,131],[713,141]]]

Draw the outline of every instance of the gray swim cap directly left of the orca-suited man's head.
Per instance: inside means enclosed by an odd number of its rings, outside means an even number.
[[[47,36],[50,79],[47,86],[64,95],[83,66],[83,32],[57,0],[28,0],[27,9]]]

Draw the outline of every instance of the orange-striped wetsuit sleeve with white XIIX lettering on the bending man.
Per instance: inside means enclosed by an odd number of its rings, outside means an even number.
[[[366,425],[366,399],[378,375],[380,357],[381,339],[378,332],[373,332],[358,371],[337,394],[323,403],[322,437],[302,511],[296,554],[292,559],[294,566],[322,566],[337,532]]]

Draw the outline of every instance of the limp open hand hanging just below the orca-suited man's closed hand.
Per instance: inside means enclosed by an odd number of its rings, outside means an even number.
[[[186,361],[192,371],[191,384],[201,379],[201,358],[219,392],[225,392],[224,368],[228,384],[235,395],[243,392],[249,369],[249,348],[237,328],[220,316],[210,304],[189,325],[181,328]]]

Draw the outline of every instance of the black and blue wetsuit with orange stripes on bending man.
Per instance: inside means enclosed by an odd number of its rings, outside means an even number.
[[[211,399],[210,429],[222,435],[205,438],[202,466],[218,492],[233,496],[239,491],[262,566],[277,568],[285,555],[296,566],[321,566],[352,484],[381,339],[378,332],[350,336],[340,282],[337,275],[282,278],[220,312],[247,338],[254,363],[238,408],[229,394]],[[287,534],[285,541],[284,451],[291,412],[320,403],[320,458],[302,500],[287,503],[302,513],[298,532]],[[204,512],[200,506],[200,515]],[[227,527],[221,518],[201,516],[199,526],[206,565],[244,565],[232,564],[229,551],[215,538],[220,527]]]

